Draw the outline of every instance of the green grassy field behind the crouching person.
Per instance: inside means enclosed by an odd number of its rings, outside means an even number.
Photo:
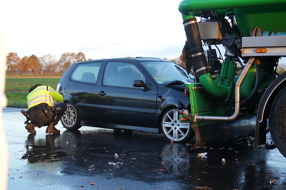
[[[9,107],[27,107],[26,97],[31,86],[42,84],[56,90],[61,76],[6,76],[5,95]]]

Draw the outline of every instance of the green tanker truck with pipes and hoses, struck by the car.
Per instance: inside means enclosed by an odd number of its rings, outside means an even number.
[[[286,56],[286,1],[183,0],[178,9],[187,39],[181,60],[195,76],[179,117],[191,124],[193,149],[249,136],[257,148],[270,130],[286,157],[286,72],[276,72]]]

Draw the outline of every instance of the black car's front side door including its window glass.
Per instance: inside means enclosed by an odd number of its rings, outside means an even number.
[[[154,128],[157,87],[133,87],[134,80],[148,79],[132,63],[107,62],[98,88],[99,119],[102,123]]]

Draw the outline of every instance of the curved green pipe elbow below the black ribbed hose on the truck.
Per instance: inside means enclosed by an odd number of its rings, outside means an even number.
[[[228,91],[225,86],[218,86],[212,79],[210,73],[203,74],[199,77],[200,83],[204,90],[212,97],[223,99],[227,97]]]

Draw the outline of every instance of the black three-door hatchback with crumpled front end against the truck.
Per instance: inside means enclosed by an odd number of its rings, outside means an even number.
[[[194,137],[179,109],[190,99],[184,68],[159,58],[114,58],[76,62],[63,74],[57,91],[67,110],[61,123],[68,130],[92,126],[150,133],[184,142]]]

